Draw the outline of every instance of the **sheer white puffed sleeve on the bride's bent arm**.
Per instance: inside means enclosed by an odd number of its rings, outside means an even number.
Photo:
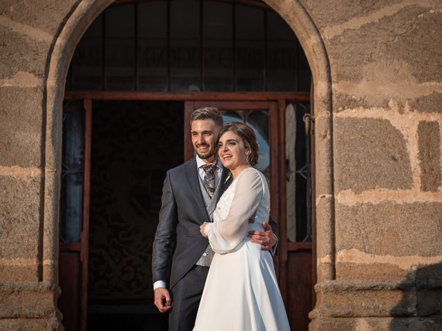
[[[209,223],[204,229],[211,248],[218,254],[231,252],[247,234],[249,219],[256,213],[262,197],[262,178],[255,170],[242,170],[233,201],[225,219]]]

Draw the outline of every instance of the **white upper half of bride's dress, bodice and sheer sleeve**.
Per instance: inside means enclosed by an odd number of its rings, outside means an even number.
[[[231,252],[250,230],[262,231],[269,220],[270,194],[264,175],[254,168],[242,170],[222,194],[206,234],[215,252]]]

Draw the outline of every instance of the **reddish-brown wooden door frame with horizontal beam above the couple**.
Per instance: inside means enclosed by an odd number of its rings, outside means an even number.
[[[310,92],[126,92],[126,91],[69,91],[65,92],[64,99],[69,100],[84,100],[84,108],[86,111],[86,126],[85,126],[85,164],[84,164],[84,178],[86,185],[84,188],[84,208],[83,208],[83,232],[81,232],[81,244],[78,249],[81,250],[81,263],[84,266],[82,270],[82,283],[81,283],[81,331],[86,331],[87,323],[87,286],[88,286],[88,228],[89,228],[89,194],[90,189],[90,134],[91,134],[91,112],[92,101],[183,101],[184,102],[184,132],[187,132],[190,128],[189,116],[195,107],[198,106],[211,106],[216,103],[224,103],[227,105],[229,102],[231,106],[241,104],[241,107],[256,108],[260,105],[264,109],[269,109],[269,129],[273,132],[270,146],[270,162],[275,164],[271,168],[271,177],[277,177],[278,181],[273,186],[274,189],[271,192],[272,200],[272,216],[275,217],[276,223],[280,230],[280,234],[287,233],[287,219],[286,208],[287,201],[286,196],[286,181],[285,176],[278,176],[278,174],[287,173],[287,164],[285,159],[281,159],[282,155],[285,155],[285,107],[289,102],[310,102]],[[311,114],[313,114],[311,104]],[[243,108],[245,109],[245,108]],[[314,141],[312,142],[314,143]],[[191,146],[190,134],[184,134],[185,146]],[[189,149],[184,148],[184,151]],[[276,152],[272,152],[276,151]],[[192,157],[191,152],[184,153],[184,159]],[[87,177],[86,177],[87,176]],[[86,178],[88,179],[86,182]],[[276,188],[276,189],[275,189]],[[274,191],[274,192],[273,192]],[[314,194],[314,191],[312,192]],[[87,197],[86,197],[87,195]],[[312,199],[314,196],[312,196]],[[314,226],[314,208],[312,204],[312,231],[316,234]],[[316,238],[314,237],[313,240]],[[75,244],[77,245],[77,244]],[[282,299],[287,307],[287,295],[288,295],[288,269],[287,261],[289,252],[297,251],[311,251],[313,261],[316,261],[316,252],[312,250],[312,243],[289,243],[287,235],[280,235],[278,254],[275,259],[276,272],[278,274],[278,281],[280,285],[280,291]],[[314,267],[313,267],[314,268]],[[316,275],[316,268],[312,270]],[[313,284],[316,283],[316,279],[313,280]]]

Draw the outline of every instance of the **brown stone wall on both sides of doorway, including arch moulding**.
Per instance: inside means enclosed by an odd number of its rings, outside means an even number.
[[[61,328],[61,99],[110,2],[0,2],[0,330]],[[314,75],[311,330],[442,330],[441,1],[268,3]]]

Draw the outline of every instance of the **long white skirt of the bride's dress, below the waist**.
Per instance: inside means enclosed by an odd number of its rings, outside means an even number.
[[[233,252],[215,254],[193,330],[290,330],[268,251],[246,237]]]

